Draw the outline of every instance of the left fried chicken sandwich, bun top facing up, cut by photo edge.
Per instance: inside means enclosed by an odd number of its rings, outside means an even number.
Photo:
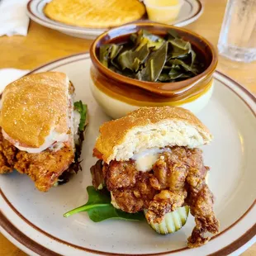
[[[2,92],[0,173],[26,173],[46,192],[78,172],[87,107],[65,73],[27,75]]]

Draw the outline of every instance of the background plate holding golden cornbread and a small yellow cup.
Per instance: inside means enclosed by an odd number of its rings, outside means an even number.
[[[148,2],[147,10],[154,15],[151,2],[155,1]],[[170,10],[165,10],[164,6],[156,7],[155,11],[160,18],[165,15],[169,19],[168,24],[186,26],[196,21],[203,12],[202,3],[199,0],[173,0],[173,2],[174,7]],[[94,39],[111,27],[138,20],[149,20],[144,3],[138,0],[128,2],[31,0],[27,3],[27,15],[42,26],[69,36],[86,39]],[[163,20],[156,21],[164,23]]]

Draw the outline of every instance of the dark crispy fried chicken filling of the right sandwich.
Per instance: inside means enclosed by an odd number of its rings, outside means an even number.
[[[97,168],[103,172],[107,188],[121,210],[136,212],[147,209],[149,222],[160,223],[166,213],[180,206],[191,206],[196,220],[188,239],[191,248],[206,244],[210,239],[206,232],[214,235],[219,232],[213,195],[206,185],[208,170],[203,164],[201,149],[178,146],[160,154],[149,172],[136,171],[133,160],[111,161],[109,165],[104,164],[103,171]]]

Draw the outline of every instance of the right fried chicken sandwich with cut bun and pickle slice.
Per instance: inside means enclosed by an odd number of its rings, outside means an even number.
[[[214,197],[206,184],[209,168],[198,147],[211,133],[192,112],[180,107],[142,107],[100,127],[93,154],[92,184],[106,186],[121,211],[144,211],[154,230],[173,233],[187,220],[196,226],[190,248],[206,244],[219,232]]]

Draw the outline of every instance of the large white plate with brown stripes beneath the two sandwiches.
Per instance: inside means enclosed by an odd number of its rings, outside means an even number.
[[[158,235],[144,222],[105,220],[94,223],[87,213],[64,218],[65,211],[87,201],[86,187],[95,164],[92,148],[98,127],[108,117],[89,90],[88,54],[73,55],[35,69],[56,70],[69,75],[77,99],[88,103],[90,123],[83,145],[83,172],[50,192],[38,192],[26,175],[0,176],[1,231],[30,255],[172,254],[235,255],[255,242],[256,233],[256,99],[238,83],[216,72],[216,86],[199,118],[215,139],[203,148],[205,164],[211,166],[209,186],[216,196],[220,235],[197,249],[187,249],[194,220],[173,235]]]

